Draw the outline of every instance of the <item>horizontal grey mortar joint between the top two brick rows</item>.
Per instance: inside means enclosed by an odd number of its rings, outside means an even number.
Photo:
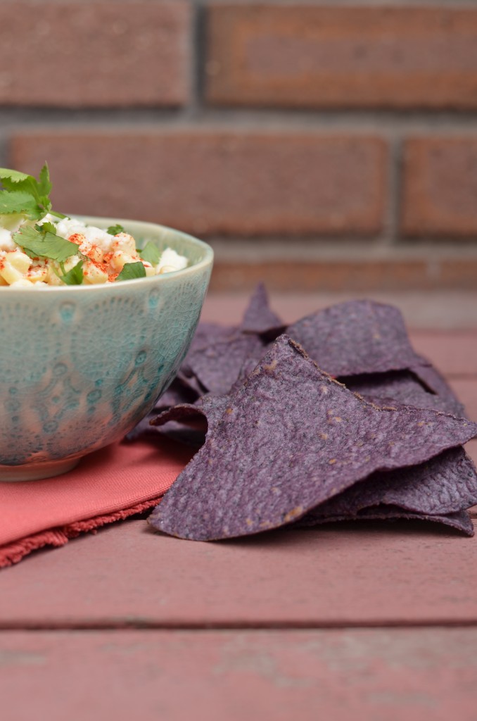
[[[203,49],[202,49],[203,52]],[[184,107],[87,108],[68,110],[53,107],[0,107],[0,125],[17,128],[51,125],[52,128],[107,128],[158,125],[176,127],[180,123],[195,123],[197,127],[214,126],[280,131],[348,131],[357,135],[375,133],[393,138],[398,133],[418,136],[454,135],[476,136],[477,112],[449,112],[439,110],[398,110],[379,108],[290,108],[290,107],[218,107],[202,103],[203,58],[197,61],[194,103]],[[192,112],[193,111],[193,112]]]

